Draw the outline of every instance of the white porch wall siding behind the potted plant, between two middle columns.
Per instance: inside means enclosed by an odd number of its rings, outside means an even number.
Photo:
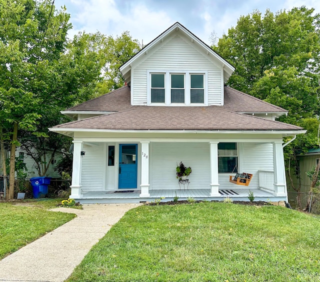
[[[192,168],[189,189],[209,188],[209,154],[208,143],[152,143],[150,189],[179,189],[175,167],[180,161]]]

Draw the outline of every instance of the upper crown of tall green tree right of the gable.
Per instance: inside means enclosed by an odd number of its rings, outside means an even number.
[[[248,91],[266,70],[294,67],[297,73],[318,73],[320,15],[314,9],[292,8],[275,15],[258,10],[241,16],[213,49],[235,66],[228,83]],[[316,79],[317,80],[317,79]]]

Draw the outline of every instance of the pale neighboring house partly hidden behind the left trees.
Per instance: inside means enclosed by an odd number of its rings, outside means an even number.
[[[7,158],[10,157],[10,152],[5,150],[5,156]],[[39,176],[38,171],[36,169],[36,163],[34,161],[34,159],[27,155],[25,151],[23,151],[20,147],[17,147],[15,150],[15,157],[18,157],[20,159],[23,160],[23,162],[25,163],[26,169],[27,169],[27,177],[35,177],[35,176]],[[48,159],[50,159],[51,156],[48,156]],[[50,176],[53,178],[60,178],[61,175],[54,170],[55,164],[57,163],[57,161],[59,159],[62,158],[62,153],[61,152],[55,152],[54,154],[54,159],[51,161],[51,163],[49,164],[49,168],[46,172],[46,176]],[[3,171],[2,171],[2,157],[0,155],[0,175],[3,175]]]

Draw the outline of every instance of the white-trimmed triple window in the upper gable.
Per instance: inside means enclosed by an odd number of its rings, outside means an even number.
[[[147,104],[207,105],[206,71],[148,70]]]

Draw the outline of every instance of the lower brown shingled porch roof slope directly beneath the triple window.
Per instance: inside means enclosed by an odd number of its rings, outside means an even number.
[[[299,126],[226,110],[221,106],[134,106],[54,128],[113,130],[300,130]]]

